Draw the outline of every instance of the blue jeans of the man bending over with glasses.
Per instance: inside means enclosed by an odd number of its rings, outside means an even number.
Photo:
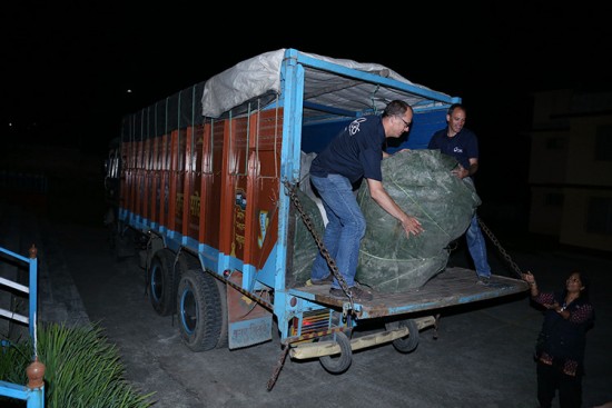
[[[353,193],[353,186],[346,177],[328,175],[324,178],[310,175],[310,181],[320,196],[328,220],[323,243],[351,288],[355,286],[359,246],[365,235],[364,215]],[[319,252],[313,263],[310,278],[320,280],[329,273],[327,260]],[[332,287],[339,289],[340,286],[334,279]]]

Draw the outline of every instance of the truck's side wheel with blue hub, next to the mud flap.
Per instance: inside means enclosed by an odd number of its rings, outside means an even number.
[[[211,350],[221,338],[221,302],[215,281],[208,272],[188,270],[178,283],[180,337],[191,351]]]

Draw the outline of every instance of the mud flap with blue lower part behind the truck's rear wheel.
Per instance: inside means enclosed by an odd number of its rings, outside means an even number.
[[[241,273],[234,272],[229,281],[241,286]],[[226,288],[229,349],[272,340],[273,314],[230,285]]]

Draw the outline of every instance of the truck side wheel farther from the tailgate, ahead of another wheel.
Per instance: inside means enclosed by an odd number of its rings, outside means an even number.
[[[157,251],[151,260],[147,285],[149,300],[158,315],[168,316],[176,309],[175,256],[169,249]]]

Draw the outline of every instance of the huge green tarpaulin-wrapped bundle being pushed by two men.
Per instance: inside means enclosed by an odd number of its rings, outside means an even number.
[[[309,186],[309,180],[304,166],[309,168],[313,158],[313,155],[303,156],[300,199],[323,237],[318,199],[305,186]],[[424,232],[417,237],[407,238],[399,222],[369,197],[367,185],[361,186],[357,201],[367,222],[356,276],[361,283],[379,292],[398,292],[419,288],[444,270],[448,243],[465,232],[481,203],[473,185],[451,173],[456,166],[455,159],[440,150],[406,150],[383,160],[383,186],[406,213],[421,221]],[[313,250],[313,242],[306,242],[308,236],[313,240],[312,235],[299,232],[305,229],[300,219],[295,222],[294,267],[299,270],[294,269],[293,276],[295,282],[302,283],[309,278],[318,248],[314,243],[315,252],[307,253]]]

